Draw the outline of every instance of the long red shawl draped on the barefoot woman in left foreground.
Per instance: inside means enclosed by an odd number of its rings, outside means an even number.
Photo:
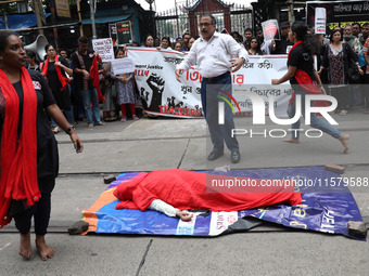
[[[5,100],[1,135],[0,228],[10,223],[8,211],[12,199],[34,205],[41,197],[37,182],[37,95],[28,71],[23,67],[24,94],[22,132],[17,140],[20,98],[5,73],[0,70],[0,89]]]

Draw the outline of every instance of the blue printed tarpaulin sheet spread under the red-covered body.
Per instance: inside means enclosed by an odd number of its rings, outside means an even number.
[[[326,171],[322,167],[222,172],[222,175],[253,179],[293,179],[295,190],[302,192],[303,201],[298,206],[277,205],[234,212],[211,212],[207,216],[194,215],[191,222],[183,222],[152,210],[144,212],[135,209],[116,210],[115,205],[119,201],[114,197],[113,190],[116,185],[135,178],[138,173],[119,174],[96,203],[82,212],[84,220],[90,225],[88,232],[217,236],[236,221],[252,216],[288,227],[349,236],[347,222],[362,221],[348,185],[343,182],[340,174]]]

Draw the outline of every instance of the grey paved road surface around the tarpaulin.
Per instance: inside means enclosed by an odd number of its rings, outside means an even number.
[[[344,176],[364,178],[369,169],[369,115],[355,110],[334,116],[339,129],[351,135],[349,154],[330,136],[302,137],[292,145],[263,135],[239,136],[241,161],[231,169],[341,165]],[[263,132],[272,123],[251,127],[251,118],[237,126]],[[305,127],[304,127],[305,128]],[[288,127],[278,127],[288,129]],[[69,236],[67,226],[81,219],[106,188],[103,176],[123,171],[181,168],[214,169],[230,165],[225,156],[206,162],[204,120],[141,119],[116,121],[93,130],[77,126],[85,152],[76,155],[68,136],[60,143],[60,178],[52,197],[49,244],[52,260],[17,255],[18,234],[11,224],[0,232],[1,275],[368,275],[369,247],[343,236],[264,227],[216,238],[87,235]],[[353,188],[361,215],[369,216],[369,188]]]

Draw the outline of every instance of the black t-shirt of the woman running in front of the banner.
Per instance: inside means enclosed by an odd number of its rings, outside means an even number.
[[[314,61],[313,56],[304,50],[304,45],[300,44],[290,52],[290,58],[288,66],[295,66],[308,74],[314,80]],[[290,79],[291,84],[298,84],[296,79],[292,77]]]

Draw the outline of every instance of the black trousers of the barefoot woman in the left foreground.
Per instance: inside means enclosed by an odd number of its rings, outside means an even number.
[[[41,194],[38,202],[14,215],[15,226],[23,235],[30,231],[31,218],[35,220],[36,235],[43,236],[48,232],[51,212],[51,194]]]

